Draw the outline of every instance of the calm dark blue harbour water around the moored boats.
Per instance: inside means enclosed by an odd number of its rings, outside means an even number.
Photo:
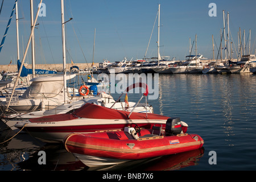
[[[141,160],[111,170],[255,170],[256,169],[256,75],[159,75],[159,98],[149,100],[154,113],[180,117],[188,133],[204,139],[204,150]],[[140,94],[129,94],[138,101]],[[114,94],[115,99],[118,94]],[[13,136],[2,129],[0,141]],[[62,146],[49,146],[27,134],[18,134],[0,145],[0,170],[98,170],[77,161]],[[47,164],[39,165],[44,150]],[[217,164],[209,164],[210,151]]]

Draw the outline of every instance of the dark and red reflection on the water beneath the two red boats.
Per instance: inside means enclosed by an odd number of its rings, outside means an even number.
[[[38,151],[46,152],[46,165],[38,164]],[[115,170],[177,170],[189,166],[197,165],[199,158],[204,154],[204,148],[198,150],[183,152],[175,155],[162,156],[158,158],[133,160],[130,162],[117,164],[113,166],[100,166],[89,168],[77,160],[72,153],[67,152],[62,145],[44,146],[34,152],[29,159],[19,162],[18,166],[25,170],[49,171],[49,170],[85,170],[85,171],[115,171]]]

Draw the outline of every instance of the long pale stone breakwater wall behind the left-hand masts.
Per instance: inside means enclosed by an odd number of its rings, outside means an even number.
[[[88,69],[89,67],[92,66],[92,63],[77,63],[73,64],[74,66],[76,65],[79,67],[79,69]],[[31,69],[32,65],[24,65],[26,68]],[[98,63],[94,63],[94,66],[97,68]],[[70,67],[72,67],[71,64],[66,65],[66,69],[69,70]],[[63,64],[36,64],[35,69],[47,69],[47,70],[53,70],[53,71],[63,71]],[[16,64],[13,65],[0,65],[0,72],[5,71],[5,72],[18,72],[18,67]]]

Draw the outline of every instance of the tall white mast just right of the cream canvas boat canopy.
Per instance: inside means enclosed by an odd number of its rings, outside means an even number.
[[[63,0],[61,0],[61,33],[62,33],[62,53],[63,53],[64,103],[66,103],[67,73],[66,73],[65,20],[64,20],[64,1]]]

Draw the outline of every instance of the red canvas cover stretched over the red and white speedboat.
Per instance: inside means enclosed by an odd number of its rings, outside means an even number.
[[[30,122],[57,122],[57,121],[68,121],[77,118],[91,118],[91,119],[158,119],[167,120],[170,117],[166,117],[158,114],[151,113],[132,113],[129,111],[122,111],[116,109],[110,109],[95,104],[86,103],[71,114],[56,114],[49,115],[40,118],[30,119]]]

